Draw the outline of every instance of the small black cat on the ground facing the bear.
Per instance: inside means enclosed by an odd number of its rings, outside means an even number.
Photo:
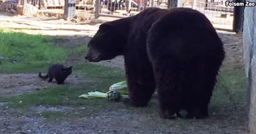
[[[64,84],[64,80],[72,73],[72,66],[65,67],[62,64],[53,64],[49,67],[48,73],[45,76],[42,76],[41,73],[38,74],[39,78],[44,80],[49,78],[48,82],[52,82],[55,78],[57,84]]]

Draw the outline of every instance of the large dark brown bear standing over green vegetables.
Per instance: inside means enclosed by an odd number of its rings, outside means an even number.
[[[129,88],[126,104],[143,107],[157,89],[161,118],[205,118],[224,59],[211,22],[190,8],[147,8],[100,25],[85,59],[123,55]]]

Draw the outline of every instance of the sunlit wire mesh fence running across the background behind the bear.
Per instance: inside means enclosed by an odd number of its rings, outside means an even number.
[[[63,18],[64,0],[0,0],[0,10],[12,10],[35,17]],[[233,27],[234,7],[226,7],[226,0],[178,0],[179,7],[199,10],[211,23],[221,29]],[[3,6],[5,3],[5,6]],[[69,0],[72,3],[74,22],[89,22],[98,16],[124,18],[138,14],[144,8],[167,8],[168,0]],[[70,5],[71,6],[71,5]]]

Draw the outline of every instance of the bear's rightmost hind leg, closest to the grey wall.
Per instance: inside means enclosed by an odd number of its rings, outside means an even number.
[[[209,61],[211,63],[200,62],[201,64],[194,68],[192,93],[187,100],[188,114],[186,118],[205,118],[208,116],[208,105],[219,70],[217,63],[214,64],[213,60]]]

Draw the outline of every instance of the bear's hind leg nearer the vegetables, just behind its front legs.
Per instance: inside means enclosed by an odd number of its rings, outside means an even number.
[[[158,88],[158,100],[160,101],[160,117],[174,119],[181,117],[182,109],[182,80],[179,69],[173,67],[163,69],[163,65],[155,67],[156,85]],[[173,65],[175,66],[175,65]]]

